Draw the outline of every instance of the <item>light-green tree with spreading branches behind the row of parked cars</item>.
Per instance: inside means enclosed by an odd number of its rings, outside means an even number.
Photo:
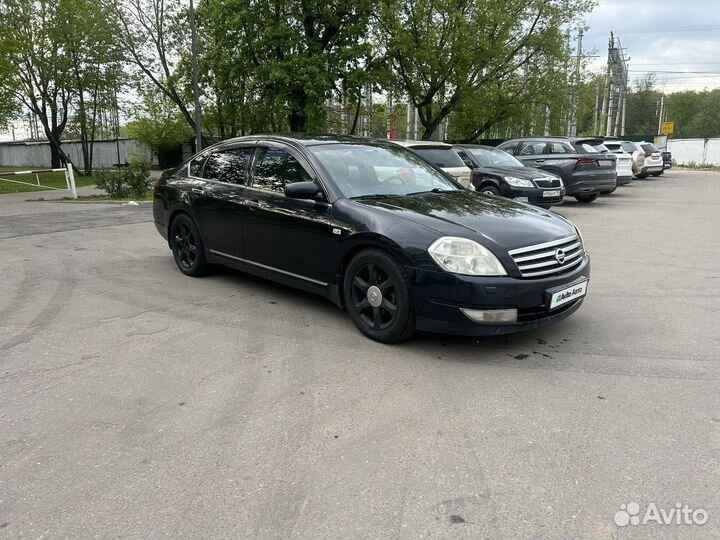
[[[486,130],[516,114],[518,104],[539,92],[540,79],[553,76],[566,56],[560,28],[592,5],[591,0],[383,0],[377,40],[418,109],[423,138],[432,138],[454,111],[466,118],[484,103],[488,107],[474,121]],[[459,130],[468,139],[483,131],[470,131],[469,123]]]

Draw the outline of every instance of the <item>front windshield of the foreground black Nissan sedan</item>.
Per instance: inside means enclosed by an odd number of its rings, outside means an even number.
[[[309,150],[346,197],[398,197],[463,190],[399,146],[327,144],[311,146]]]

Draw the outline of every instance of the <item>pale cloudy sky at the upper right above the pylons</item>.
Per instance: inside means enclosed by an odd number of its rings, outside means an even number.
[[[598,0],[585,22],[590,71],[604,70],[613,31],[630,81],[655,72],[666,93],[720,88],[720,0]]]

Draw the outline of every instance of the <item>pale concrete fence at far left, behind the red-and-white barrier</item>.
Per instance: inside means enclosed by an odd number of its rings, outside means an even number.
[[[109,169],[118,162],[118,146],[120,163],[129,163],[135,155],[142,156],[145,161],[157,165],[157,157],[145,144],[133,139],[115,141],[95,141],[93,149],[93,167]],[[80,141],[63,142],[62,148],[75,167],[82,170],[85,162],[82,157]],[[50,165],[50,143],[48,141],[4,141],[0,142],[0,167],[47,167]]]

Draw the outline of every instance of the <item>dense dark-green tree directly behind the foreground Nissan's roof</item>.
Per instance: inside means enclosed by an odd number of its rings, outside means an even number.
[[[322,129],[325,102],[338,83],[368,71],[358,59],[372,57],[372,6],[372,0],[207,2],[198,13],[211,46],[208,72],[223,74],[216,79],[218,111],[232,103],[228,91],[240,89],[253,113],[254,121],[243,122],[251,131]]]

